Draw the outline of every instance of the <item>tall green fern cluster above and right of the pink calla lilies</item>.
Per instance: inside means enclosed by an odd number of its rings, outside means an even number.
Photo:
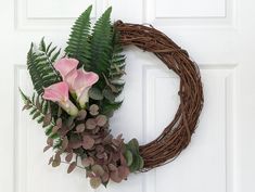
[[[125,55],[118,42],[118,33],[111,24],[112,8],[109,8],[91,29],[89,7],[75,22],[65,49],[68,56],[79,60],[79,66],[100,76],[99,81],[89,91],[92,102],[101,113],[112,115],[122,101],[116,98],[124,89]]]

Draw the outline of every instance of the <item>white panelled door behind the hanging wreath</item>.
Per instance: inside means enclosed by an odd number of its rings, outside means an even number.
[[[64,47],[75,17],[91,3],[93,20],[112,4],[115,21],[150,23],[187,49],[205,93],[192,142],[175,162],[97,191],[254,192],[253,0],[1,0],[0,191],[92,191],[84,171],[47,165],[43,131],[21,111],[18,95],[18,87],[33,90],[25,66],[30,41],[44,36]],[[126,54],[125,103],[112,129],[145,143],[174,117],[179,81],[154,55],[132,47]]]

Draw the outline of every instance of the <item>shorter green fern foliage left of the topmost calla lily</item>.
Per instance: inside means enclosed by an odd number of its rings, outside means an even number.
[[[53,67],[53,62],[59,56],[60,51],[56,53],[53,52],[54,48],[49,48],[48,51],[44,50],[43,43],[40,43],[39,50],[35,50],[35,46],[31,43],[30,50],[27,53],[27,68],[29,71],[34,88],[39,95],[43,92],[43,88],[61,80],[60,75]]]

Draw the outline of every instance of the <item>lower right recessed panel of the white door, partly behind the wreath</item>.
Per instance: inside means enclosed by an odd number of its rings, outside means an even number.
[[[192,155],[183,152],[178,161],[166,165],[166,167],[157,168],[154,172],[153,183],[155,191],[164,191],[166,189],[165,183],[168,183],[173,191],[192,189],[192,191],[226,192],[226,179],[229,177],[227,166],[232,161],[232,156],[227,156],[229,140],[227,140],[226,133],[231,132],[231,127],[227,126],[227,116],[231,118],[232,115],[228,108],[232,103],[227,101],[227,94],[229,94],[228,99],[232,95],[231,86],[234,71],[233,68],[219,69],[217,66],[211,69],[207,66],[201,66],[201,71],[205,87],[205,110],[200,123],[201,129],[195,131],[193,142],[188,148],[189,150],[192,149]],[[151,140],[161,132],[162,127],[167,126],[169,119],[175,115],[171,112],[177,110],[178,90],[176,89],[178,89],[178,86],[176,86],[177,79],[173,80],[169,73],[163,73],[154,67],[146,68],[145,72],[148,76],[148,124],[145,127],[146,138]],[[175,94],[173,95],[169,90],[175,91]],[[171,101],[166,101],[169,99]],[[165,108],[166,105],[170,106],[170,110]],[[158,114],[164,114],[164,116]],[[170,114],[170,116],[166,114]],[[206,118],[206,116],[209,118]],[[203,129],[204,127],[206,129]],[[229,157],[230,159],[227,159]]]

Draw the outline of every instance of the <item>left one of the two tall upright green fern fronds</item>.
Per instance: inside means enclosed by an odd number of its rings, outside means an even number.
[[[90,55],[90,5],[75,22],[65,52],[68,56],[77,59],[85,68],[89,64]]]

